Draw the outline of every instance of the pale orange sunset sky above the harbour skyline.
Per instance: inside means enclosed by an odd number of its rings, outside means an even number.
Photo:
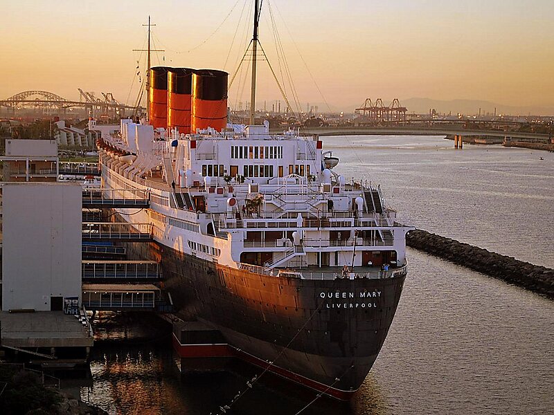
[[[145,46],[149,14],[154,46],[166,49],[153,66],[233,73],[251,37],[251,3],[3,0],[0,99],[37,89],[78,100],[79,87],[134,102],[145,57],[132,49]],[[303,109],[326,101],[351,111],[368,97],[554,107],[552,0],[265,0],[260,42],[280,77],[268,3]],[[258,108],[267,100],[270,109],[280,96],[260,67]],[[231,106],[249,100],[247,76],[235,80]]]

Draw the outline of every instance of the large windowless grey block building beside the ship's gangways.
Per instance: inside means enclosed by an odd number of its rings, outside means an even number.
[[[81,212],[77,183],[3,185],[3,311],[81,304]]]

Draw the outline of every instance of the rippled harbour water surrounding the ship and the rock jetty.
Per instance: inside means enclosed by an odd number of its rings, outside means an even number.
[[[554,154],[439,137],[332,137],[344,176],[365,172],[418,228],[554,267]],[[539,160],[543,157],[544,160]],[[554,302],[409,250],[409,277],[375,366],[348,405],[302,414],[554,412]],[[209,414],[250,374],[182,379],[168,342],[100,346],[81,396],[111,414]],[[256,383],[233,414],[296,414],[314,394]],[[229,413],[229,412],[228,412]]]

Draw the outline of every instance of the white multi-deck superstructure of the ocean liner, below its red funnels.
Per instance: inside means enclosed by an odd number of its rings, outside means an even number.
[[[405,234],[379,187],[325,168],[322,142],[269,124],[177,137],[122,120],[102,131],[104,187],[136,189],[150,209],[129,221],[179,252],[232,268],[304,278],[386,277],[405,272]],[[381,266],[390,264],[389,270]],[[354,268],[352,270],[352,267]]]

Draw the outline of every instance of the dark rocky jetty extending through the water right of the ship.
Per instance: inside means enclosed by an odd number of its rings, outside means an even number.
[[[425,230],[413,230],[406,244],[436,257],[447,259],[479,273],[502,279],[554,299],[554,270],[518,261],[467,243],[441,237]]]

